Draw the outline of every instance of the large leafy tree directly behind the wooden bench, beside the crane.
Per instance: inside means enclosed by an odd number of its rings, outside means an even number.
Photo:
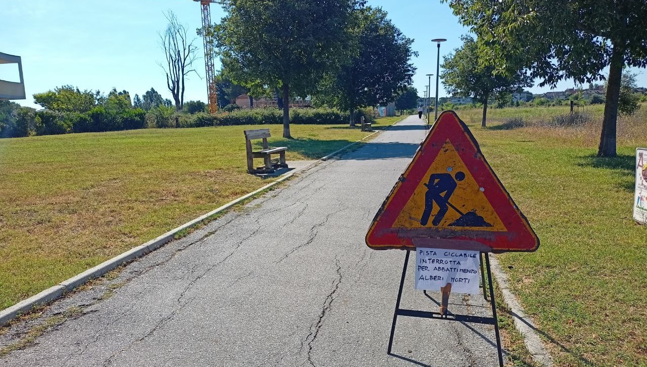
[[[217,49],[232,60],[230,77],[243,86],[281,88],[283,100],[314,91],[323,75],[349,56],[355,0],[237,0],[213,30]],[[289,103],[283,137],[291,138]]]

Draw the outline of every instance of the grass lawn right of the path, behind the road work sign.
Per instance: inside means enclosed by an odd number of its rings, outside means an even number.
[[[542,241],[532,254],[498,255],[516,294],[557,366],[647,366],[647,226],[631,219],[647,119],[631,130],[642,136],[621,129],[618,158],[597,158],[597,141],[575,128],[496,130],[516,112],[499,110],[484,129],[470,119],[478,110],[457,111]]]

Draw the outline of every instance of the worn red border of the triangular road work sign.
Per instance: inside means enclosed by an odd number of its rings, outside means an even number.
[[[433,228],[392,228],[443,144],[449,139],[474,180],[508,231],[438,230]],[[418,148],[406,171],[384,200],[366,234],[366,244],[375,250],[416,247],[476,250],[482,252],[532,252],[539,238],[528,220],[487,163],[476,139],[454,111],[441,113]]]

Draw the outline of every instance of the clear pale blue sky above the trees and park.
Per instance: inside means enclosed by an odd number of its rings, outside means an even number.
[[[459,25],[448,5],[439,1],[369,0],[381,6],[395,25],[413,38],[419,56],[413,60],[417,74],[413,80],[419,95],[427,84],[426,74],[435,74],[436,47],[432,38],[446,38],[443,54],[460,46],[460,36],[468,32]],[[163,12],[172,10],[189,29],[201,27],[199,3],[192,0],[0,0],[0,52],[22,57],[28,98],[16,101],[34,106],[31,95],[71,84],[81,89],[107,92],[115,87],[142,95],[155,88],[170,98],[166,78],[157,64],[164,58],[157,32],[164,30]],[[212,5],[212,21],[219,21],[223,10]],[[195,39],[201,48],[202,40]],[[196,69],[204,77],[203,59]],[[219,65],[217,65],[219,67]],[[0,65],[0,79],[15,80],[17,71]],[[435,80],[432,77],[432,91]],[[639,86],[647,86],[647,76],[638,77]],[[573,87],[562,82],[558,90]],[[549,88],[531,88],[543,93]],[[433,94],[433,93],[432,93]],[[441,97],[446,95],[442,81]],[[206,101],[206,82],[191,75],[185,101]]]

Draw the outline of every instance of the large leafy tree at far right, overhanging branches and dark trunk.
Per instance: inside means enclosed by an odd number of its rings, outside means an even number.
[[[616,156],[617,117],[624,65],[647,67],[644,1],[444,0],[478,35],[483,62],[499,73],[520,67],[540,85],[604,78],[609,67],[598,156]]]

